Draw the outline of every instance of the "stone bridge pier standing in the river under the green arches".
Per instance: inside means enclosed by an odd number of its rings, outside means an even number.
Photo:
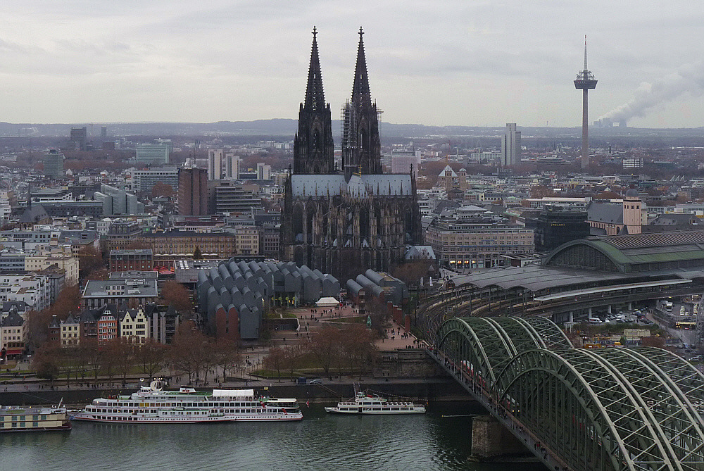
[[[537,461],[513,434],[491,415],[472,417],[472,454],[470,460],[511,462]]]

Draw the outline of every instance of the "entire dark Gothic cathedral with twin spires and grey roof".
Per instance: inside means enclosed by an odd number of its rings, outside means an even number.
[[[415,177],[382,172],[377,105],[359,31],[352,98],[342,111],[342,168],[334,160],[315,28],[306,99],[298,110],[294,166],[284,187],[280,256],[346,280],[403,263],[422,243]]]

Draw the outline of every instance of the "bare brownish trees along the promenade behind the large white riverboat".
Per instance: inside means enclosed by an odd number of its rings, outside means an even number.
[[[38,377],[52,382],[65,375],[67,385],[72,380],[113,382],[116,377],[125,382],[127,375],[154,377],[165,369],[187,376],[189,382],[205,382],[208,373],[218,368],[225,377],[239,365],[240,358],[239,348],[232,341],[215,341],[185,322],[170,345],[152,339],[134,345],[124,338],[103,344],[94,338],[82,338],[77,346],[46,344],[34,355],[33,367]]]

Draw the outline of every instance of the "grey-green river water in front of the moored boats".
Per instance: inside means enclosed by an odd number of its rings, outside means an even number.
[[[431,403],[424,415],[381,416],[302,406],[300,422],[73,422],[71,432],[1,434],[0,470],[545,470],[467,461],[467,415],[478,406]]]

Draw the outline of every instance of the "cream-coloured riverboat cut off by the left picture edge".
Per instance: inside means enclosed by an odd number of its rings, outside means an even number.
[[[47,407],[0,408],[0,433],[2,432],[62,432],[71,429],[68,411],[61,403]]]

